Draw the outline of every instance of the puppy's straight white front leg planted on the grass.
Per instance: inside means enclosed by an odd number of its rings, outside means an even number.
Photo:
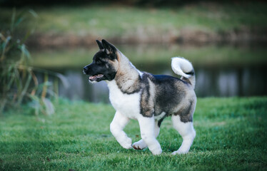
[[[148,149],[153,153],[153,155],[160,155],[161,145],[158,143],[158,140],[155,138],[154,118],[139,117],[138,123],[140,125],[140,132],[142,140],[148,145]]]

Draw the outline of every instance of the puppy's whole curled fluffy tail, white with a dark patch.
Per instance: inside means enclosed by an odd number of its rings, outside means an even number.
[[[181,80],[186,81],[195,88],[196,76],[192,64],[185,58],[173,57],[171,58],[171,68],[173,72],[181,76]]]

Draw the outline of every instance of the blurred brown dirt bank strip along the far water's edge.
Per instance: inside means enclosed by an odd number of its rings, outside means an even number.
[[[96,39],[101,39],[101,36],[86,35],[76,36],[72,34],[55,34],[55,33],[34,33],[27,44],[40,47],[54,46],[91,46]],[[105,37],[106,38],[106,37]],[[178,31],[178,36],[175,33],[141,33],[129,34],[123,36],[110,36],[106,38],[113,43],[243,43],[243,42],[267,42],[266,30],[233,30],[233,31],[218,31],[217,33],[206,31],[191,31],[181,29]]]

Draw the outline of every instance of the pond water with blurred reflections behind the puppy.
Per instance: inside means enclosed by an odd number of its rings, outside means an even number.
[[[127,47],[125,46],[122,49],[126,52],[128,51]],[[136,51],[138,51],[138,48],[136,49],[137,49]],[[160,48],[154,48],[153,51],[156,51],[157,49],[159,51],[158,53],[162,53]],[[89,53],[91,55],[94,54],[96,51],[97,49],[92,49]],[[129,51],[134,51],[132,46],[129,49]],[[236,65],[236,64],[232,65],[232,63],[231,65],[227,65],[227,61],[226,63],[217,62],[215,64],[205,65],[205,62],[202,63],[199,62],[198,58],[196,59],[194,59],[193,57],[190,58],[190,56],[198,55],[198,51],[196,51],[196,49],[194,51],[195,52],[193,54],[188,53],[187,56],[189,56],[189,59],[193,63],[193,66],[196,71],[195,90],[196,90],[196,95],[198,97],[267,95],[267,75],[266,75],[267,65],[264,62],[264,60],[263,62],[257,64],[253,62],[253,60],[258,60],[258,58],[256,58],[255,56],[251,56],[251,62],[248,61],[247,63],[241,65]],[[225,49],[223,49],[223,51],[225,51]],[[179,52],[181,53],[181,51]],[[59,54],[59,51],[54,49],[51,51],[51,53]],[[66,52],[63,51],[62,53]],[[170,58],[173,56],[173,53],[176,52],[166,54],[165,61],[162,60],[162,58],[160,59],[155,58],[155,60],[146,61],[146,58],[151,58],[151,56],[147,55],[146,57],[147,54],[146,50],[143,50],[140,53],[142,55],[144,54],[144,56],[141,57],[143,58],[143,60],[133,59],[133,61],[135,61],[133,63],[135,64],[136,68],[140,69],[141,71],[147,71],[153,74],[166,74],[166,75],[176,76],[171,70],[171,61],[170,61]],[[154,53],[156,54],[157,52]],[[200,56],[211,56],[212,54],[210,53],[214,53],[215,55],[214,58],[216,58],[215,53],[220,53],[220,50],[218,51],[216,50],[215,52],[207,51],[206,53],[209,54],[206,55],[203,54],[203,49],[199,51],[199,54],[201,54]],[[257,53],[257,50],[255,50],[255,48],[253,48],[251,54],[257,55],[259,53]],[[243,55],[243,53],[241,53],[241,55]],[[265,56],[266,54],[260,53],[260,55]],[[60,56],[60,54],[58,56]],[[90,58],[92,58],[92,55]],[[138,58],[138,56],[136,58]],[[80,60],[79,56],[76,56],[74,60],[79,61]],[[244,60],[247,59],[244,58]],[[64,74],[64,76],[69,81],[68,86],[66,85],[64,86],[63,83],[59,84],[60,96],[69,98],[71,100],[89,100],[94,103],[99,103],[99,102],[109,103],[109,90],[106,86],[106,82],[101,81],[100,83],[91,84],[88,81],[88,76],[82,73],[83,66],[89,64],[90,62],[91,59],[88,60],[88,63],[81,64],[81,66],[53,67],[53,68],[49,67],[49,69],[51,70],[58,71]]]

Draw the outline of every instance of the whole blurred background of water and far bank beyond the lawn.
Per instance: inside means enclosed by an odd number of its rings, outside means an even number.
[[[171,57],[187,58],[198,97],[267,95],[265,1],[0,0],[0,31],[2,49],[5,34],[23,41],[31,76],[57,81],[71,100],[109,103],[106,83],[89,84],[82,73],[102,38],[153,74],[176,76]]]

